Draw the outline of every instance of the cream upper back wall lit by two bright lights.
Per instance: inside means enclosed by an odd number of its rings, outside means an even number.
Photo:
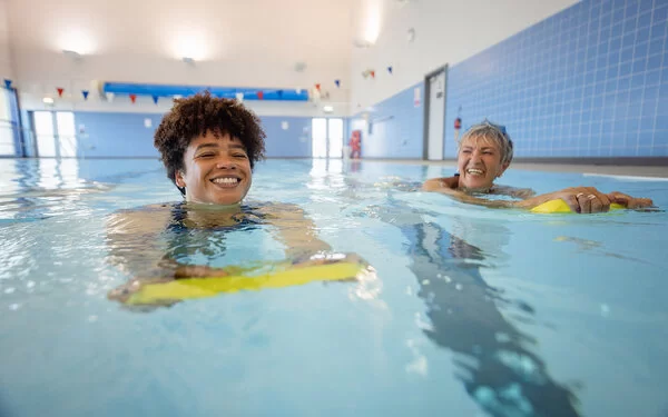
[[[57,96],[57,87],[78,98],[94,80],[267,89],[321,83],[340,111],[350,101],[350,17],[356,0],[0,1],[7,1],[16,82],[27,107]],[[63,49],[82,57],[75,60]],[[185,56],[195,66],[183,62]],[[303,72],[295,70],[299,61],[307,66]],[[257,109],[271,113],[281,106]],[[135,106],[79,107],[155,109],[150,98]],[[293,103],[285,109],[313,111]]]

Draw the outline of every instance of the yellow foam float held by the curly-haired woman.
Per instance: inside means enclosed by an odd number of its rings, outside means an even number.
[[[337,262],[312,267],[294,267],[253,277],[236,275],[212,278],[181,278],[168,282],[145,284],[125,304],[151,305],[161,300],[214,297],[220,292],[281,288],[312,281],[337,281],[355,278],[365,269],[366,267],[361,264]]]

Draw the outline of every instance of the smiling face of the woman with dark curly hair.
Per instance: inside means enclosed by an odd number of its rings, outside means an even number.
[[[228,133],[212,131],[190,141],[184,153],[184,168],[175,173],[176,185],[186,189],[186,201],[236,205],[252,182],[246,148]]]

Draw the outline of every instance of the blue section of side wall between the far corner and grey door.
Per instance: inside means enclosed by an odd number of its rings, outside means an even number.
[[[424,82],[419,82],[373,106],[369,121],[357,115],[348,120],[347,138],[362,130],[363,158],[422,159],[424,125]],[[414,90],[420,89],[421,105],[413,105]],[[347,139],[346,139],[347,142]]]

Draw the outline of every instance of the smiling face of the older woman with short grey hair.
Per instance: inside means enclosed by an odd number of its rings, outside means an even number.
[[[509,162],[501,162],[501,157],[494,140],[480,136],[466,138],[461,143],[456,159],[459,187],[470,191],[489,191],[509,166]]]

